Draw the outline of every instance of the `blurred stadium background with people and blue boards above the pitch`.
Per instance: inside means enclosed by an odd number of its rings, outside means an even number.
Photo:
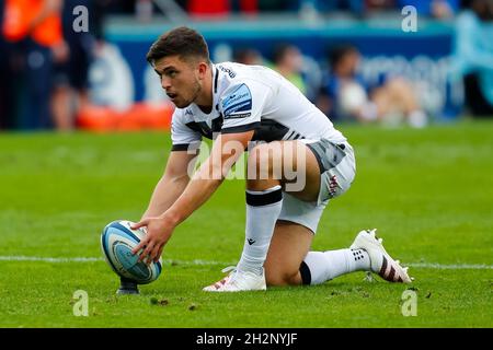
[[[490,0],[2,0],[0,11],[4,130],[169,128],[173,106],[145,55],[179,25],[203,33],[214,62],[278,70],[331,119],[493,115]]]

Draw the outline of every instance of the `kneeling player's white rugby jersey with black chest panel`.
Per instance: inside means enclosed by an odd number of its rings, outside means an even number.
[[[213,65],[213,110],[196,104],[174,110],[173,151],[217,133],[254,130],[254,141],[329,139],[346,141],[331,120],[288,80],[262,66]]]

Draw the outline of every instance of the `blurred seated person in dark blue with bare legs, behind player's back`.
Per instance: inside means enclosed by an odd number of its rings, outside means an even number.
[[[352,45],[331,51],[331,72],[318,98],[321,110],[335,119],[393,125],[404,118],[413,127],[426,125],[426,115],[408,82],[393,78],[378,86],[367,86],[357,74],[359,61],[359,51]]]

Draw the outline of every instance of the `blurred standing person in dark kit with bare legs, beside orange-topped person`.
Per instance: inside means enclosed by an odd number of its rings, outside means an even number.
[[[68,45],[68,57],[55,66],[55,86],[51,110],[55,127],[70,130],[74,127],[78,110],[89,104],[88,75],[94,51],[94,36],[91,32],[76,32],[73,9],[83,5],[93,12],[91,0],[65,0],[62,9],[62,32]]]

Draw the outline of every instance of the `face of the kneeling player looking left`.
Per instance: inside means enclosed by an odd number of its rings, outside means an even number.
[[[179,108],[193,103],[202,91],[198,62],[185,61],[179,56],[163,57],[156,61],[154,70],[168,97]]]

